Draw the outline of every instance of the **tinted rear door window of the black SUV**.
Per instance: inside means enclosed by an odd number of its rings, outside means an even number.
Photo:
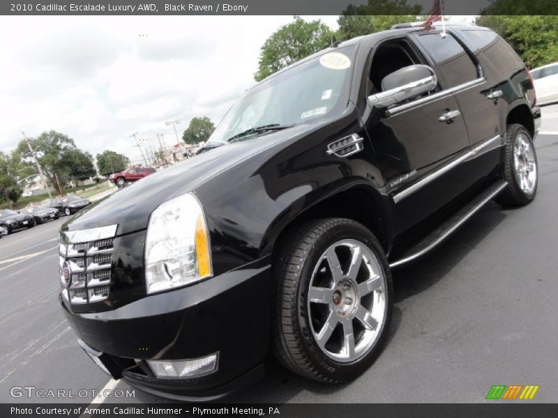
[[[449,35],[439,33],[417,35],[416,39],[434,59],[448,88],[470,82],[478,77],[478,67],[460,43]]]

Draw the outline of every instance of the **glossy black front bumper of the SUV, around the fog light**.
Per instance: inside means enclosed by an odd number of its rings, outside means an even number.
[[[61,304],[82,348],[98,353],[114,378],[174,400],[211,401],[263,376],[269,346],[269,272],[269,264],[259,261],[95,314],[73,314],[62,299]],[[218,369],[194,378],[157,378],[145,362],[211,353],[219,353]]]

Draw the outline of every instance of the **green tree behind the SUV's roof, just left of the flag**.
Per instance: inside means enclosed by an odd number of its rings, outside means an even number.
[[[407,5],[407,0],[368,0],[361,6],[349,5],[339,16],[340,40],[391,29],[394,24],[415,22],[422,6]]]

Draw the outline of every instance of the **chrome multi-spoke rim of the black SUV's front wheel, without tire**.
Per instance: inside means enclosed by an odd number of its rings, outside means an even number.
[[[341,240],[326,249],[310,279],[308,315],[331,359],[354,362],[370,352],[386,322],[386,279],[366,245]]]

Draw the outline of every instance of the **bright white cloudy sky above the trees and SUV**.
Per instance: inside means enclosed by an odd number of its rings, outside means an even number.
[[[305,17],[313,20],[317,17]],[[333,29],[335,16],[322,17]],[[0,150],[59,130],[140,160],[130,134],[176,141],[165,121],[217,123],[255,82],[259,48],[292,16],[0,17]]]

